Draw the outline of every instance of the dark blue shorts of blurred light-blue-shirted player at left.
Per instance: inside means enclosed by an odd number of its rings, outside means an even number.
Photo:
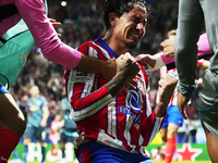
[[[24,133],[23,138],[26,139],[33,139],[33,137],[35,137],[38,141],[44,142],[46,140],[46,131],[45,131],[45,127],[26,127],[26,130]]]

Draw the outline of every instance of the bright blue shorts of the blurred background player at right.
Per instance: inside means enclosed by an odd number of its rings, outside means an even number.
[[[166,128],[169,124],[174,124],[177,126],[182,126],[183,116],[181,115],[177,105],[169,105],[167,109],[167,115],[161,128]]]

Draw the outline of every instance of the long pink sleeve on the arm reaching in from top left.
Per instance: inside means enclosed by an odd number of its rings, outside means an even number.
[[[47,17],[44,0],[14,0],[14,3],[28,26],[36,46],[41,49],[44,58],[74,68],[81,61],[82,54],[58,38]]]

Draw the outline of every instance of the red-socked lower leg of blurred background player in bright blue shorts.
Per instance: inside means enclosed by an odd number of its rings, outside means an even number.
[[[179,126],[174,124],[168,125],[168,133],[167,133],[167,149],[165,155],[165,162],[170,163],[172,161],[173,153],[177,149],[177,134],[178,134]]]

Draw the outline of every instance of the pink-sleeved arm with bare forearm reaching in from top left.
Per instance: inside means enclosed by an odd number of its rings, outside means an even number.
[[[93,59],[60,40],[52,26],[52,21],[50,22],[50,18],[47,17],[44,0],[16,0],[15,5],[28,26],[36,46],[41,49],[45,59],[69,68],[99,73],[106,79],[111,79],[114,76],[114,60],[104,62]]]

